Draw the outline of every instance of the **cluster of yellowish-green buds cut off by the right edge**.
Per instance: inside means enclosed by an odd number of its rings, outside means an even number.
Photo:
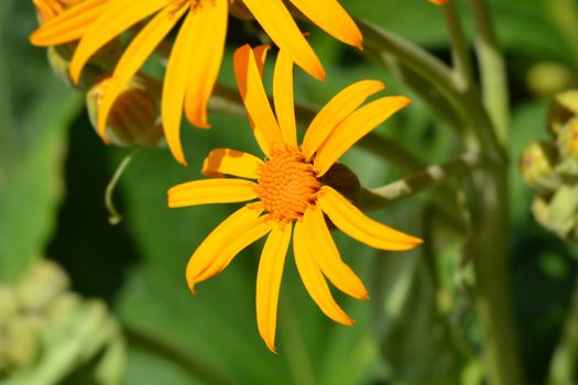
[[[535,219],[558,237],[578,241],[578,90],[556,96],[548,116],[552,141],[524,151],[522,177],[536,193]]]

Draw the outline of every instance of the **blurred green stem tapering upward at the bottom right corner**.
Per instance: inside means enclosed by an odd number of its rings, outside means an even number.
[[[578,369],[578,283],[574,288],[570,312],[549,365],[548,385],[576,384]]]

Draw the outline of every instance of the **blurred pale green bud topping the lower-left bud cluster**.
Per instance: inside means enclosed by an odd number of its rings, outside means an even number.
[[[45,311],[69,286],[70,282],[61,267],[43,260],[21,278],[17,293],[23,309]]]

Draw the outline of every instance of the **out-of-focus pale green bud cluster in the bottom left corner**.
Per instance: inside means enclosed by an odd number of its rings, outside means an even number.
[[[0,383],[61,383],[81,361],[95,359],[120,338],[118,327],[98,334],[116,320],[101,301],[85,300],[69,286],[67,275],[47,260],[32,265],[15,284],[0,284]],[[96,309],[101,322],[91,316]]]

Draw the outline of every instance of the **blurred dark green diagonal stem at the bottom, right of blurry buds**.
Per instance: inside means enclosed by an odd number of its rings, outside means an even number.
[[[122,332],[127,337],[131,346],[159,355],[160,358],[181,366],[185,372],[189,373],[194,378],[199,380],[203,384],[230,384],[229,381],[210,369],[206,362],[192,356],[187,352],[184,352],[152,333],[148,333],[131,326],[124,326]]]

